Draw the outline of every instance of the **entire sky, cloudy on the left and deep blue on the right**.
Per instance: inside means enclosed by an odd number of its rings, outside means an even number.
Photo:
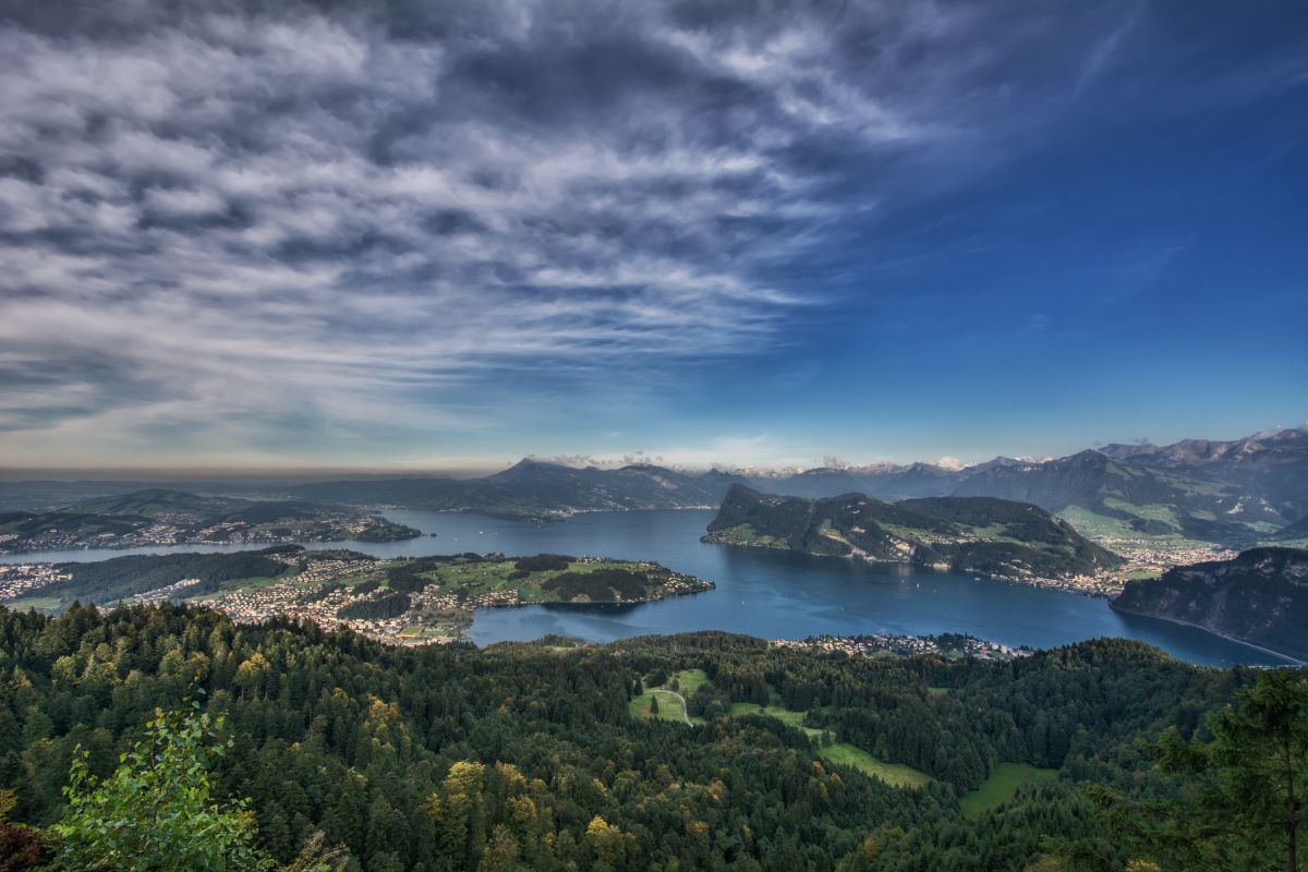
[[[1308,418],[1308,5],[0,1],[0,467]]]

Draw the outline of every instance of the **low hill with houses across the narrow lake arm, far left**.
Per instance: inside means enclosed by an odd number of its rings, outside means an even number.
[[[0,514],[0,553],[204,543],[395,541],[419,531],[381,515],[302,501],[148,489],[52,511]]]

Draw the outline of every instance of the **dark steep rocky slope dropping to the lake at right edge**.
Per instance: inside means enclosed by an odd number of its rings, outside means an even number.
[[[1127,582],[1113,608],[1308,658],[1308,550],[1254,548]]]

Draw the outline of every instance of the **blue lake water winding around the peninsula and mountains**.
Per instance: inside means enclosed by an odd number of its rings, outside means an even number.
[[[729,630],[799,639],[831,633],[968,633],[1005,645],[1053,647],[1101,635],[1141,639],[1206,665],[1282,663],[1257,648],[1196,628],[1113,612],[1108,601],[1012,582],[700,541],[713,511],[628,511],[565,522],[498,520],[480,515],[388,511],[422,536],[403,543],[307,543],[378,557],[460,552],[654,560],[717,583],[717,590],[628,607],[527,605],[483,609],[468,635],[477,645],[560,633],[595,642],[647,633]],[[166,550],[234,550],[262,545],[179,545],[9,554],[4,562],[90,561]]]

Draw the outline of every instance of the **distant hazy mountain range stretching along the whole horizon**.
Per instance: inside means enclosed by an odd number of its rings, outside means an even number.
[[[1114,443],[1049,459],[995,458],[964,468],[929,463],[821,467],[761,475],[687,472],[650,464],[619,469],[525,459],[477,478],[395,476],[300,484],[188,482],[260,499],[473,511],[555,519],[578,511],[715,507],[732,484],[804,498],[861,493],[878,499],[997,497],[1057,512],[1078,529],[1117,537],[1162,536],[1247,546],[1308,536],[1308,429],[1168,446]],[[95,488],[99,490],[95,490]],[[0,484],[0,506],[72,502],[123,493],[131,482]],[[63,490],[61,490],[63,489]],[[75,497],[76,498],[76,497]]]

